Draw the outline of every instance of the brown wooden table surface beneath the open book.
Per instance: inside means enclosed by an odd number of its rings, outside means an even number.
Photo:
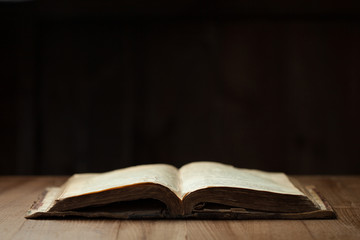
[[[0,239],[360,239],[360,176],[297,176],[335,209],[335,220],[26,220],[47,186],[66,177],[0,177]]]

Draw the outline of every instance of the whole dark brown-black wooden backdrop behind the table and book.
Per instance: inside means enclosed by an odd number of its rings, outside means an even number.
[[[354,2],[0,2],[0,174],[359,174]]]

